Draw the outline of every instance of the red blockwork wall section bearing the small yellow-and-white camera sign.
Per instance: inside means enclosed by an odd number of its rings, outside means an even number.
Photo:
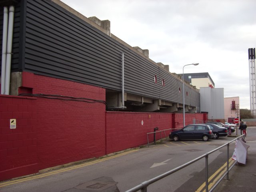
[[[0,180],[38,172],[36,101],[0,95]]]

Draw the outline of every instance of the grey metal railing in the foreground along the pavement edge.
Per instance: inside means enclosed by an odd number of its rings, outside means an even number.
[[[160,179],[162,179],[162,178],[165,178],[166,176],[169,176],[169,175],[171,175],[171,174],[173,174],[173,173],[175,173],[175,172],[177,172],[177,171],[179,171],[179,170],[185,168],[186,166],[189,166],[190,164],[193,164],[194,162],[197,162],[198,160],[200,160],[200,159],[202,159],[202,158],[205,158],[205,188],[206,188],[205,190],[206,190],[206,192],[208,192],[208,156],[209,156],[210,154],[212,154],[213,152],[215,152],[215,151],[217,151],[217,150],[223,148],[224,146],[227,146],[227,162],[226,162],[227,165],[226,165],[226,172],[225,172],[224,175],[218,180],[218,182],[216,182],[216,184],[214,184],[214,186],[212,186],[212,188],[210,189],[210,192],[212,192],[212,190],[214,190],[214,188],[216,188],[216,186],[221,182],[221,180],[222,180],[225,176],[226,176],[226,179],[227,179],[227,180],[229,179],[229,178],[228,178],[228,173],[229,173],[229,171],[233,168],[233,166],[236,164],[236,162],[235,162],[235,163],[229,168],[229,144],[232,143],[232,142],[234,142],[234,141],[236,141],[238,138],[240,138],[240,137],[242,137],[242,136],[244,136],[244,135],[241,135],[241,136],[235,138],[234,140],[232,140],[232,141],[230,141],[230,142],[228,142],[228,143],[226,143],[226,144],[224,144],[224,145],[222,145],[222,146],[220,146],[220,147],[218,147],[218,148],[216,148],[216,149],[214,149],[214,150],[212,150],[212,151],[210,151],[210,152],[208,152],[208,153],[206,153],[206,154],[204,154],[204,155],[202,155],[202,156],[199,156],[198,158],[195,158],[194,160],[191,160],[190,162],[187,162],[187,163],[185,163],[185,164],[183,164],[183,165],[181,165],[181,166],[179,166],[179,167],[177,167],[177,168],[174,168],[174,169],[172,169],[172,170],[170,170],[170,171],[168,171],[168,172],[165,172],[164,174],[161,174],[161,175],[159,175],[159,176],[157,176],[157,177],[155,177],[155,178],[152,178],[152,179],[150,179],[150,180],[144,181],[144,182],[142,182],[141,184],[135,186],[134,188],[131,188],[130,190],[127,190],[126,192],[136,192],[136,191],[138,191],[138,190],[141,190],[141,192],[146,192],[146,191],[147,191],[147,187],[148,187],[150,184],[152,184],[152,183],[154,183],[154,182],[156,182],[156,181],[158,181],[158,180],[160,180]]]

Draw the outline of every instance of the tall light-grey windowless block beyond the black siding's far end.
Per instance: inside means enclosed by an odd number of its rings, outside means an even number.
[[[200,88],[202,112],[208,112],[208,120],[224,120],[224,88]]]

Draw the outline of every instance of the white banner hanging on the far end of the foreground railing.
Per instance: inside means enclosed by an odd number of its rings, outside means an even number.
[[[237,160],[238,163],[246,164],[247,150],[250,146],[246,144],[243,138],[236,140],[236,146],[232,156],[233,160]]]

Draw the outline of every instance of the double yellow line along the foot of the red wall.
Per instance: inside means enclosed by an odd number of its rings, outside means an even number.
[[[70,166],[70,167],[67,167],[67,168],[62,168],[60,170],[46,172],[44,174],[37,174],[37,175],[29,176],[29,177],[26,177],[26,178],[21,178],[21,179],[16,179],[16,180],[12,180],[12,181],[3,182],[3,183],[0,183],[0,188],[8,186],[8,185],[13,185],[13,184],[17,184],[17,183],[21,183],[21,182],[25,182],[25,181],[30,181],[30,180],[34,180],[34,179],[38,179],[38,178],[43,178],[43,177],[47,177],[47,176],[50,176],[50,175],[66,172],[66,171],[69,171],[69,170],[73,170],[73,169],[89,166],[89,165],[96,164],[96,163],[99,163],[99,162],[103,162],[103,161],[106,161],[106,160],[109,160],[109,159],[117,158],[117,157],[129,154],[129,153],[135,152],[137,150],[138,149],[131,150],[131,151],[128,151],[128,152],[124,152],[124,153],[121,153],[121,154],[113,155],[113,156],[106,157],[106,158],[103,158],[103,159],[94,160],[92,162],[86,162],[86,163],[79,164],[79,165],[76,165],[76,166]]]

